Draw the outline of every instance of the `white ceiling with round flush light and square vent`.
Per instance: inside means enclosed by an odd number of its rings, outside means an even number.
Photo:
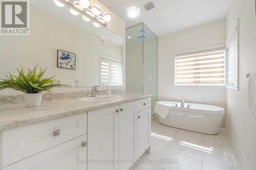
[[[155,8],[146,11],[151,0],[99,0],[126,22],[126,28],[144,22],[158,35],[193,28],[226,18],[232,0],[153,0]],[[129,18],[126,10],[138,7],[140,15]]]

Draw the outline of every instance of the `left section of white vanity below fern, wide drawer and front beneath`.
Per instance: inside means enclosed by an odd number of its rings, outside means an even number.
[[[87,113],[2,132],[3,170],[84,170]]]

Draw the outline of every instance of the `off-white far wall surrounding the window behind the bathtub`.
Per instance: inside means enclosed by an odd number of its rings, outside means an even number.
[[[159,101],[185,100],[185,102],[210,104],[225,108],[225,88],[173,86],[173,53],[225,44],[225,19],[159,37],[158,42]]]

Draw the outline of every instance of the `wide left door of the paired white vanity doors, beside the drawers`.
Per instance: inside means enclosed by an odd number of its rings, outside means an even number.
[[[88,159],[118,159],[119,106],[88,112]],[[117,170],[118,163],[88,163],[90,170]]]

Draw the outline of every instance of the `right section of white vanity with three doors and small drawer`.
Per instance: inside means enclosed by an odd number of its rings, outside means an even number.
[[[133,163],[126,160],[138,159],[150,147],[150,133],[150,98],[88,112],[88,159],[124,160],[88,163],[88,169],[129,169]]]

